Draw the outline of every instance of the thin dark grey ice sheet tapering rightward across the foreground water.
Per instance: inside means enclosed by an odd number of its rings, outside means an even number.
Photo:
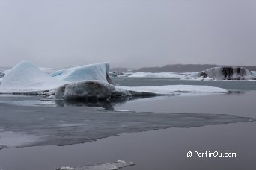
[[[29,141],[16,140],[15,145],[5,142],[9,148],[72,145],[121,133],[255,121],[223,114],[135,113],[88,107],[10,107],[7,104],[1,104],[0,116],[0,143],[8,140],[6,134],[10,132],[13,137],[29,138]]]

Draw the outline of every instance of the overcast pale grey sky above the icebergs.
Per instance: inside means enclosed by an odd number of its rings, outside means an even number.
[[[0,0],[0,65],[256,66],[255,0]]]

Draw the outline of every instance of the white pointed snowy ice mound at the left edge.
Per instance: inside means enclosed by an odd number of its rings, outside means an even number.
[[[67,82],[61,81],[46,73],[28,61],[22,61],[10,69],[0,85],[0,92],[33,92],[54,89]]]

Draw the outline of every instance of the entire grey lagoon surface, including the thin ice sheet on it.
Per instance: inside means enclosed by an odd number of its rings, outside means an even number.
[[[10,145],[0,150],[0,168],[50,170],[117,160],[136,163],[124,169],[256,168],[256,81],[113,81],[210,85],[230,92],[96,103],[0,95],[0,143]],[[188,151],[236,152],[237,157],[188,158]]]

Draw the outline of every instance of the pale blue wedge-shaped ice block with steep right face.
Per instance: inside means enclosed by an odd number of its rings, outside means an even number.
[[[77,82],[88,80],[105,81],[112,84],[108,75],[109,63],[94,63],[85,66],[74,66],[52,72],[52,77],[63,81]]]

